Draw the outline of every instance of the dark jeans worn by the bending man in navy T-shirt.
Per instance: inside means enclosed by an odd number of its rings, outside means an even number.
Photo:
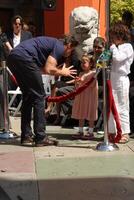
[[[41,141],[46,136],[45,129],[45,91],[40,68],[34,62],[25,61],[10,54],[8,67],[16,77],[22,91],[21,138],[32,135],[31,115],[33,109],[33,130],[35,140]]]

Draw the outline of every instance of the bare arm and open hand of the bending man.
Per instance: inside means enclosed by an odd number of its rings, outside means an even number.
[[[55,76],[71,76],[74,78],[73,75],[77,74],[75,69],[72,69],[73,66],[66,67],[64,64],[62,68],[58,68],[57,60],[52,57],[48,56],[45,66],[43,67],[43,72],[45,74],[55,75]]]

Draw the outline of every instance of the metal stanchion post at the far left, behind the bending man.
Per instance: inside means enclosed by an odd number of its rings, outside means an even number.
[[[9,113],[8,113],[8,75],[6,70],[6,61],[2,61],[2,75],[3,75],[3,116],[4,129],[0,132],[0,138],[12,138],[13,134],[9,131]]]

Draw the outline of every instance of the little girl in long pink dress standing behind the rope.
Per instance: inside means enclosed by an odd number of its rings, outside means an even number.
[[[82,86],[89,81],[96,73],[94,68],[93,57],[88,54],[84,54],[81,60],[82,72],[79,77],[76,77],[76,87]],[[94,79],[93,82],[80,94],[75,96],[72,118],[79,120],[79,132],[73,135],[74,139],[91,139],[93,138],[94,122],[98,117],[98,83]],[[85,120],[89,121],[88,134],[84,135],[83,126]]]

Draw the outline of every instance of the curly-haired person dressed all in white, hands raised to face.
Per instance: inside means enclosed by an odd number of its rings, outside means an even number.
[[[121,123],[122,137],[119,143],[129,141],[129,78],[130,65],[134,59],[133,47],[129,43],[129,30],[122,22],[115,23],[110,29],[110,50],[112,51],[111,84],[112,92]],[[109,135],[114,137],[116,126],[112,113],[108,121]]]

